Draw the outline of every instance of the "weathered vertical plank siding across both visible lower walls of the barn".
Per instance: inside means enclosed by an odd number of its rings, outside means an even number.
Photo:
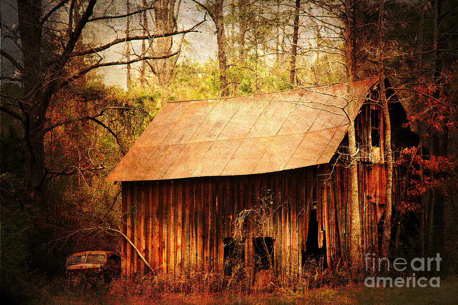
[[[378,253],[377,223],[385,202],[384,168],[383,164],[358,166],[361,225],[364,251],[368,253]],[[347,171],[345,166],[324,164],[247,176],[123,182],[122,227],[155,272],[173,277],[221,272],[223,238],[232,236],[239,212],[250,209],[269,190],[274,212],[267,230],[259,232],[250,218],[244,224],[248,277],[254,272],[252,238],[270,235],[274,239],[273,275],[294,279],[302,272],[312,188],[316,188],[317,197],[316,238],[320,247],[326,244],[328,266],[335,266],[348,255]],[[125,241],[122,259],[127,276],[149,272]]]

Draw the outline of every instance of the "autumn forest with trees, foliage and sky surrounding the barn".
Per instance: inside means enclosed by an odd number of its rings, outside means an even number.
[[[422,145],[390,256],[456,266],[458,11],[452,0],[2,1],[2,295],[120,251],[105,182],[167,101],[385,77]],[[454,271],[456,272],[455,267]]]

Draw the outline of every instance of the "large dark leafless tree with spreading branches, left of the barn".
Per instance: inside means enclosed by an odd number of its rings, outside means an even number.
[[[44,137],[52,128],[48,108],[56,93],[88,72],[113,65],[127,65],[142,60],[167,58],[175,54],[139,54],[130,59],[107,60],[105,52],[126,42],[154,40],[195,31],[196,24],[182,31],[169,31],[155,35],[124,36],[125,31],[115,31],[115,39],[88,43],[84,31],[93,24],[108,24],[151,8],[142,8],[125,14],[110,14],[111,3],[97,0],[19,0],[17,24],[11,31],[2,31],[3,38],[17,46],[20,55],[4,49],[1,56],[14,67],[13,73],[2,71],[2,80],[20,83],[23,97],[2,96],[0,108],[21,122],[27,146],[26,192],[32,202],[44,205],[45,181],[49,171],[45,164]],[[111,10],[112,11],[112,10]],[[109,25],[109,24],[108,24]],[[78,58],[84,58],[84,65]],[[5,71],[5,73],[4,73]]]

